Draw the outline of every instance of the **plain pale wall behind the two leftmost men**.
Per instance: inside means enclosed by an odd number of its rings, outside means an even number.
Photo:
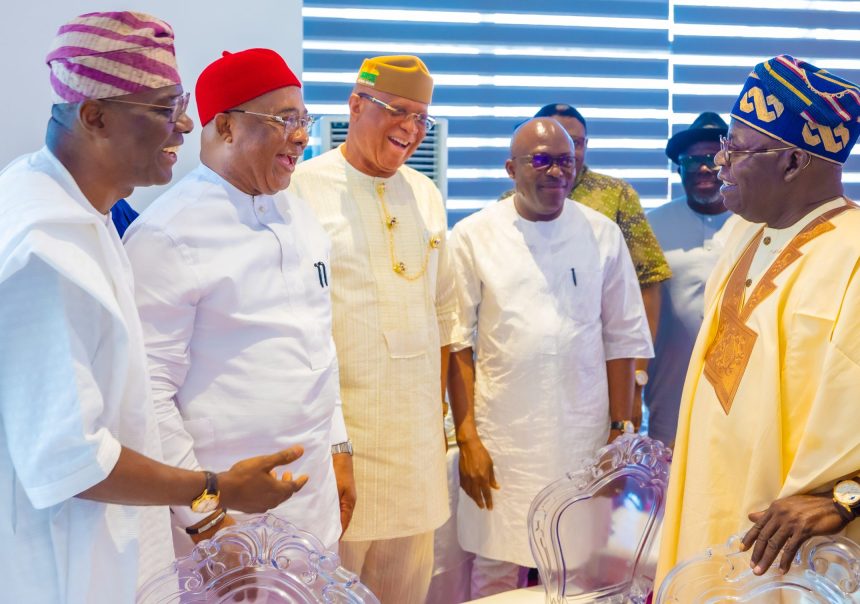
[[[155,15],[176,32],[176,55],[186,90],[194,91],[198,74],[221,56],[246,48],[272,48],[301,77],[302,0],[18,0],[7,7],[0,36],[0,76],[3,81],[0,112],[0,166],[43,144],[50,117],[51,97],[45,55],[57,28],[87,12],[135,10]],[[195,130],[185,138],[174,180],[192,169],[200,151],[197,107],[191,95],[189,115]],[[131,203],[148,205],[162,187],[138,189]]]

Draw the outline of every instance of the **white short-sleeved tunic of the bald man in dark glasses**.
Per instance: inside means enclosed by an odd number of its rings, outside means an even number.
[[[500,487],[492,511],[461,492],[457,524],[463,549],[533,566],[532,499],[609,437],[606,361],[653,350],[617,225],[574,201],[553,221],[530,222],[514,199],[451,235],[453,348],[476,353],[475,421]]]

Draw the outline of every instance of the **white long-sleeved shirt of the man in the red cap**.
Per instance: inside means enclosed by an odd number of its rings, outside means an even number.
[[[124,241],[165,460],[219,472],[301,444],[279,471],[308,483],[273,512],[336,545],[331,445],[347,437],[325,231],[301,199],[252,197],[200,165]],[[205,516],[174,512],[182,527]]]

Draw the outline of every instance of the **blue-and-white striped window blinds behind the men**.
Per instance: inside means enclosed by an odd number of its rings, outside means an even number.
[[[755,8],[750,8],[756,5]],[[305,99],[343,115],[365,57],[420,56],[449,119],[453,225],[510,188],[514,127],[547,103],[588,120],[587,163],[628,180],[646,206],[680,192],[663,154],[702,111],[727,114],[750,68],[788,53],[860,81],[860,2],[305,0]],[[846,166],[860,194],[860,164]],[[857,172],[857,173],[855,173]]]

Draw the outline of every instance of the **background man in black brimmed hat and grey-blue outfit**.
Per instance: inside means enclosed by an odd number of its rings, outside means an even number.
[[[678,165],[684,195],[648,213],[654,234],[672,268],[662,283],[660,331],[645,386],[650,411],[648,433],[670,446],[675,442],[684,374],[702,324],[705,281],[723,249],[720,229],[731,216],[723,205],[714,157],[728,125],[707,111],[666,145]]]

